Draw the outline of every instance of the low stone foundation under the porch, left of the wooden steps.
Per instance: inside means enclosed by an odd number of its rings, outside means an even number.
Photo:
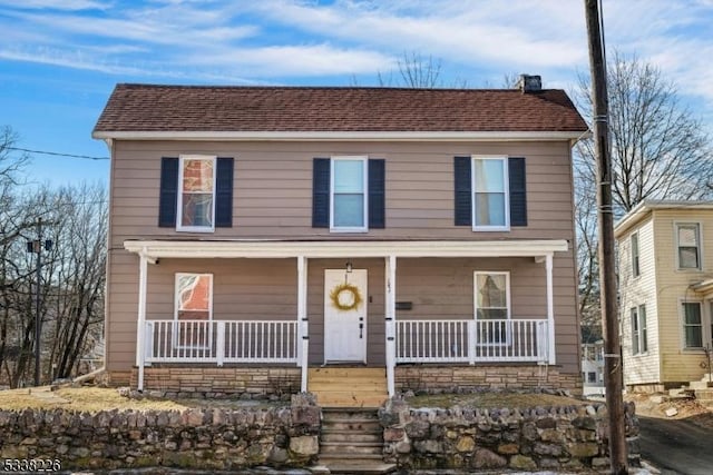
[[[144,390],[196,397],[282,397],[300,392],[300,378],[297,367],[147,367]],[[134,368],[130,386],[137,385],[138,368]]]

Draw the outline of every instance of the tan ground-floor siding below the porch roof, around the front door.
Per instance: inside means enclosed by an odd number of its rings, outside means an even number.
[[[134,364],[138,306],[138,258],[121,255],[115,263],[120,281],[114,280],[108,301],[111,370]],[[556,271],[573,273],[570,256],[556,258]],[[324,269],[344,268],[343,259],[307,260],[307,315],[310,364],[324,363]],[[368,364],[384,360],[384,261],[354,259],[354,268],[368,270]],[[511,317],[547,318],[545,266],[534,258],[399,259],[397,300],[413,309],[398,311],[398,319],[473,318],[473,271],[510,273]],[[176,273],[213,274],[213,318],[216,320],[296,320],[296,259],[162,259],[148,266],[147,318],[173,319]],[[131,278],[133,276],[133,278]],[[566,281],[567,279],[564,279]],[[578,372],[577,323],[574,296],[555,281],[557,363],[564,373]]]

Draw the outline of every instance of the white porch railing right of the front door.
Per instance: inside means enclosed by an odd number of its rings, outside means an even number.
[[[397,319],[397,363],[539,363],[548,339],[545,319]]]

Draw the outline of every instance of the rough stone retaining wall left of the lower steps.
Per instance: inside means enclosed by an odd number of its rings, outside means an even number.
[[[320,424],[305,395],[270,409],[0,410],[0,457],[62,469],[299,467],[316,459]]]

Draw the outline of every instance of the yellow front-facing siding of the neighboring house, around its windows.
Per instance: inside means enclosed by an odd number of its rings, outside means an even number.
[[[703,375],[703,350],[683,349],[683,323],[680,306],[684,299],[701,301],[703,325],[710,325],[709,309],[691,289],[692,284],[713,277],[713,210],[655,209],[656,267],[661,325],[662,382],[687,382]],[[702,270],[676,268],[675,222],[700,222]],[[704,342],[706,344],[704,331]]]

